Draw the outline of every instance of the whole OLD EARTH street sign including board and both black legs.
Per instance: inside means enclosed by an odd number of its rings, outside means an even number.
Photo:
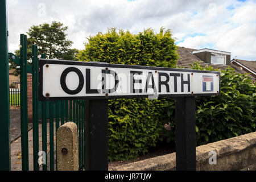
[[[108,170],[108,99],[156,95],[176,97],[176,170],[196,170],[195,96],[219,94],[214,71],[39,60],[40,101],[85,100],[87,171]]]

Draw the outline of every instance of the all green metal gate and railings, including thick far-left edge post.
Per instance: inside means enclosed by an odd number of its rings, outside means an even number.
[[[33,165],[35,171],[57,170],[56,165],[56,131],[60,125],[72,121],[77,124],[79,142],[79,169],[84,169],[84,101],[38,101],[38,47],[32,46],[32,66],[27,64],[27,36],[20,35],[20,57],[8,53],[8,26],[6,0],[0,1],[0,170],[11,169],[10,158],[10,101],[14,102],[13,92],[9,90],[9,62],[20,65],[20,130],[21,130],[21,152],[22,170],[28,170]],[[42,54],[42,58],[46,55]],[[32,73],[32,161],[28,158],[28,95],[27,95],[27,73]],[[11,96],[11,98],[10,98]],[[14,103],[13,103],[14,104]],[[16,105],[18,105],[16,104]],[[40,126],[40,128],[39,128]],[[41,129],[41,131],[40,131]],[[42,135],[42,142],[39,140]],[[47,137],[47,134],[49,137]],[[40,136],[41,137],[41,136]],[[47,141],[47,138],[49,142]],[[41,139],[41,138],[40,138]],[[48,142],[48,143],[47,143]],[[41,147],[42,146],[42,147]],[[48,148],[49,147],[49,148]],[[49,150],[48,150],[49,149]],[[40,150],[40,151],[39,151]],[[39,153],[46,154],[45,163],[39,165]],[[48,158],[47,158],[48,156]]]

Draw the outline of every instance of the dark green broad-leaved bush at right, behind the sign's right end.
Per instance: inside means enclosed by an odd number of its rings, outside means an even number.
[[[250,77],[235,73],[233,68],[221,71],[197,63],[192,68],[221,73],[220,96],[196,97],[197,145],[254,132],[256,86]],[[168,133],[168,138],[175,140],[174,132]]]

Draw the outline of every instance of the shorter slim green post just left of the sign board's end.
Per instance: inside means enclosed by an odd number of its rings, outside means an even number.
[[[32,106],[33,106],[33,161],[34,171],[39,171],[39,127],[38,127],[38,47],[32,45]]]

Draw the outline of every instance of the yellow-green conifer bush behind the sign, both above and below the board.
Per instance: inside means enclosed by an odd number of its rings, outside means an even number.
[[[175,67],[177,54],[171,31],[151,29],[137,35],[110,28],[90,36],[77,59],[115,64]],[[109,101],[109,160],[129,160],[147,152],[159,140],[167,115],[165,99],[117,99]],[[167,102],[168,104],[168,102]]]

